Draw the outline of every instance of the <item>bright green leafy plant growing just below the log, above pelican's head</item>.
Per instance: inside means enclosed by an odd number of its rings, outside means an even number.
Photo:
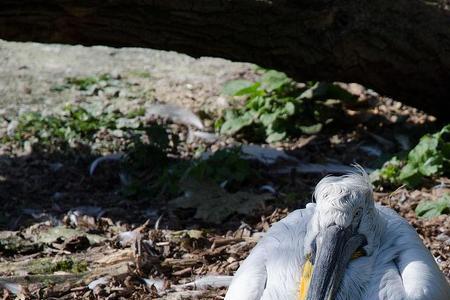
[[[269,70],[259,81],[233,80],[223,93],[244,105],[228,109],[216,121],[221,134],[246,132],[253,140],[276,142],[299,134],[315,134],[333,121],[342,100],[354,97],[342,88],[328,83],[294,82],[284,73]]]

